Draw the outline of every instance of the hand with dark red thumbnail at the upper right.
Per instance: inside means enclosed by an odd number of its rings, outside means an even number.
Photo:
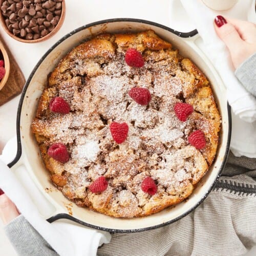
[[[227,46],[233,66],[237,69],[253,53],[256,53],[256,25],[239,19],[215,18],[217,35]]]

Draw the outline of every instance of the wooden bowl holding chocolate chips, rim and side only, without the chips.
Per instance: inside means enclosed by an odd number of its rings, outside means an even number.
[[[0,0],[0,7],[2,6],[4,0]],[[20,41],[20,42],[28,42],[28,43],[32,43],[32,42],[41,42],[41,41],[44,41],[50,37],[52,37],[61,27],[61,25],[63,24],[63,21],[64,21],[64,18],[65,18],[65,15],[66,15],[66,4],[65,4],[65,0],[62,0],[62,12],[61,12],[61,15],[60,15],[60,18],[59,18],[59,22],[58,24],[56,25],[56,27],[49,33],[47,34],[46,36],[43,36],[43,37],[40,37],[38,39],[31,39],[31,40],[28,40],[28,39],[23,39],[23,38],[20,38],[18,36],[15,36],[13,33],[11,33],[8,29],[8,27],[6,26],[5,24],[5,17],[3,16],[2,14],[2,11],[0,10],[0,24],[2,25],[2,27],[4,28],[5,32],[11,36],[12,38],[14,38],[15,40],[17,41]]]

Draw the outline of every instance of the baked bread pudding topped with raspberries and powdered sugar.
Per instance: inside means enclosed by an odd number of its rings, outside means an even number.
[[[49,74],[32,132],[63,195],[132,218],[193,193],[220,123],[204,74],[149,30],[100,34],[71,50]]]

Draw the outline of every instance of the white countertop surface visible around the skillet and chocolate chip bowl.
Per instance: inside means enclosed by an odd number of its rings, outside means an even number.
[[[169,5],[170,1],[177,0],[66,0],[66,18],[60,30],[50,39],[36,44],[25,44],[9,37],[0,27],[0,33],[4,37],[7,45],[16,58],[16,61],[27,79],[40,57],[62,36],[70,31],[88,23],[96,22],[108,18],[140,18],[151,20],[165,26],[170,26]],[[241,1],[241,0],[240,0]],[[177,15],[183,15],[177,12]],[[174,22],[172,27],[182,28],[181,22]],[[189,27],[183,32],[193,30],[194,26],[190,23]],[[19,96],[0,107],[0,154],[6,142],[16,134],[16,112]],[[11,244],[7,240],[0,222],[0,248],[1,255],[17,255]],[[246,254],[247,256],[256,255],[256,247]]]

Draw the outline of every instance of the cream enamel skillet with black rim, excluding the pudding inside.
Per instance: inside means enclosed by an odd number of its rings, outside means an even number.
[[[104,216],[87,208],[81,208],[65,198],[49,179],[48,170],[41,160],[38,146],[31,133],[31,123],[35,116],[37,103],[47,82],[47,75],[53,71],[60,59],[72,48],[92,35],[102,32],[124,33],[153,29],[161,38],[172,43],[180,53],[190,58],[210,80],[219,111],[222,116],[219,148],[214,164],[197,185],[194,193],[175,207],[167,208],[157,214],[133,218],[117,219]],[[139,19],[109,19],[80,27],[61,38],[39,60],[25,84],[17,113],[18,150],[15,159],[9,164],[14,171],[24,166],[27,174],[40,191],[40,197],[50,207],[41,210],[42,216],[49,222],[58,219],[69,219],[82,225],[110,232],[136,232],[158,228],[173,223],[193,211],[210,193],[224,168],[230,142],[231,117],[227,104],[226,90],[222,80],[206,56],[196,46],[197,31],[180,33],[165,26]],[[17,172],[18,173],[18,172]],[[15,172],[16,174],[16,172]],[[38,196],[31,195],[34,202]],[[42,207],[41,207],[42,208]]]

